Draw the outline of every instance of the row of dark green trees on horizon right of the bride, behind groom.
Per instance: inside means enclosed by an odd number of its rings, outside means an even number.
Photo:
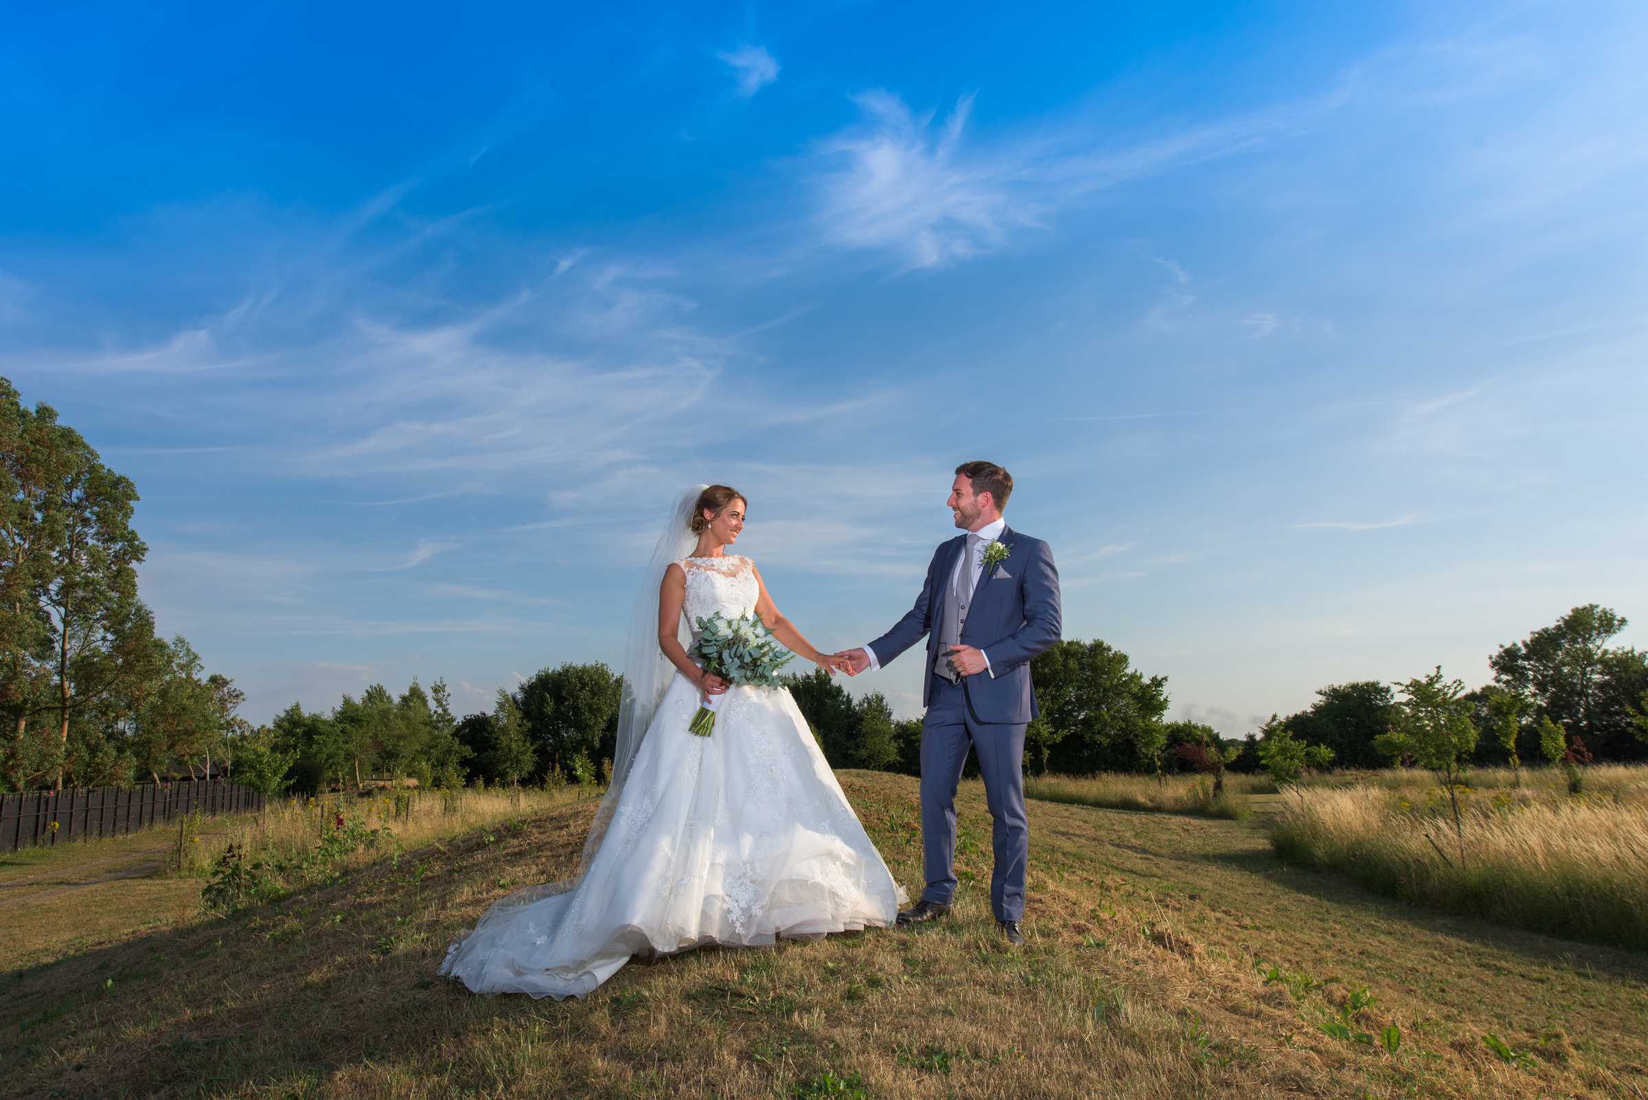
[[[1556,624],[1500,646],[1493,680],[1473,692],[1440,669],[1404,685],[1333,683],[1307,710],[1272,715],[1241,739],[1167,721],[1167,677],[1147,677],[1103,641],[1065,639],[1032,665],[1040,718],[1025,731],[1033,772],[1282,771],[1414,762],[1404,738],[1445,710],[1470,726],[1462,762],[1648,759],[1648,652],[1610,647],[1627,626],[1610,608],[1574,608]],[[1398,698],[1398,690],[1404,698]],[[832,767],[920,774],[921,721],[897,721],[880,693],[854,700],[824,672],[791,692]],[[1439,701],[1439,693],[1447,698]],[[969,769],[974,766],[969,762]]]

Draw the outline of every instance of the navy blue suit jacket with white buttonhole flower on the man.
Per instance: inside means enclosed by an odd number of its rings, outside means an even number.
[[[979,575],[967,624],[961,632],[961,644],[982,649],[995,675],[981,672],[966,677],[962,683],[977,721],[1017,725],[1040,713],[1035,685],[1030,683],[1030,659],[1045,654],[1058,641],[1058,570],[1053,568],[1053,552],[1040,538],[1004,527],[997,542],[1010,550],[999,565]],[[893,629],[870,642],[875,660],[885,665],[926,636],[929,672],[921,677],[923,706],[931,701],[928,693],[933,687],[931,669],[938,662],[944,585],[949,585],[966,545],[966,535],[939,543],[916,606]]]

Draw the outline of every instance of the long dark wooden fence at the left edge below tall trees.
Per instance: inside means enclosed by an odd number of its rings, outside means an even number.
[[[0,794],[0,851],[119,837],[157,822],[201,813],[255,813],[264,795],[211,779],[160,787],[92,787]]]

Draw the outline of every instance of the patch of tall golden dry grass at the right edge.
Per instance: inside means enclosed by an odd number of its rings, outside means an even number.
[[[1589,771],[1582,794],[1566,782],[1465,789],[1462,838],[1434,785],[1300,789],[1271,841],[1285,860],[1407,901],[1648,950],[1648,769]]]

